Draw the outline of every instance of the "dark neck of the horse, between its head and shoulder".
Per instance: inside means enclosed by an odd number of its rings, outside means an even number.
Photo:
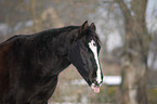
[[[44,60],[43,62],[47,62],[47,66],[51,66],[54,75],[57,75],[70,64],[67,56],[73,29],[58,31],[44,31],[36,37],[39,52],[41,52],[39,56],[41,56],[42,61]]]

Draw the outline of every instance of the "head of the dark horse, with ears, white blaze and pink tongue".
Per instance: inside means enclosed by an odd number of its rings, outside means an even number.
[[[88,84],[94,89],[95,93],[99,93],[103,82],[103,74],[99,60],[100,39],[95,30],[94,23],[89,26],[88,22],[84,22],[73,34],[68,57]]]

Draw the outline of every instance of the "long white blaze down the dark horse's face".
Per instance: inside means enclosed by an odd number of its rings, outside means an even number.
[[[101,66],[100,66],[100,62],[99,62],[97,47],[96,47],[96,43],[95,43],[94,40],[91,40],[89,42],[89,48],[91,49],[91,51],[92,51],[92,53],[94,55],[96,65],[97,65],[96,81],[97,81],[97,83],[100,83],[102,81],[102,78],[101,78]]]

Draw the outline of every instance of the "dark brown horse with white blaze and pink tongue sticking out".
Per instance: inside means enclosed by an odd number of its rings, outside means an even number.
[[[45,104],[73,64],[95,93],[103,73],[94,23],[16,35],[0,43],[0,104]]]

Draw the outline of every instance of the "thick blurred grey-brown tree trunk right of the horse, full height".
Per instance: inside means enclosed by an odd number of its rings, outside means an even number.
[[[123,0],[116,0],[116,2],[123,13],[126,25],[120,104],[147,104],[146,63],[149,46],[145,23],[147,0],[132,0],[131,9]]]

